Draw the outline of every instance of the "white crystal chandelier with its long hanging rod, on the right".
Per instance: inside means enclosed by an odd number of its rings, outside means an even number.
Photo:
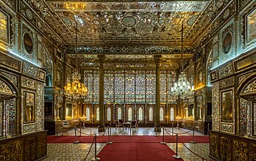
[[[176,95],[185,99],[193,94],[194,87],[191,86],[191,83],[187,79],[187,73],[183,71],[183,21],[182,21],[182,72],[179,73],[178,81],[174,83],[174,86],[171,88],[171,94]]]

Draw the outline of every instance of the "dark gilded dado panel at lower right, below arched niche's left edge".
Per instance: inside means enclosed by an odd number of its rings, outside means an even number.
[[[239,158],[239,160],[248,160],[248,149],[247,143],[243,141],[235,140],[234,143],[233,158]]]

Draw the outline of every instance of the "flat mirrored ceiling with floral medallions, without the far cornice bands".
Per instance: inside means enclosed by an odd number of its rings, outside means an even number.
[[[60,29],[74,45],[76,20],[79,44],[93,40],[102,43],[110,40],[166,44],[180,41],[181,23],[184,35],[193,30],[193,24],[207,8],[210,1],[47,1],[53,10],[51,23]],[[57,24],[58,23],[58,24]],[[62,32],[64,31],[64,32]],[[185,40],[186,41],[186,40]]]

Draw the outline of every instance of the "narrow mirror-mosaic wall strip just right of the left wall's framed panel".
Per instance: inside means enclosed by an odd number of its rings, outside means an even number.
[[[37,122],[37,131],[42,131],[44,130],[44,125],[43,125],[43,121],[44,121],[44,100],[43,100],[43,95],[44,95],[44,88],[43,88],[43,83],[38,83],[38,88],[37,88],[37,92],[38,92],[38,99],[37,99],[37,108],[36,108],[36,122]]]

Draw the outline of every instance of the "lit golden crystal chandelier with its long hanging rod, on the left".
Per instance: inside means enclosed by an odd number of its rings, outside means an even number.
[[[77,21],[77,16],[76,16]],[[66,86],[64,86],[64,94],[65,97],[68,97],[71,100],[84,100],[87,93],[88,88],[84,85],[84,83],[80,83],[81,80],[81,74],[78,70],[78,64],[77,64],[77,25],[76,25],[76,70],[72,73],[72,82],[67,83]]]

